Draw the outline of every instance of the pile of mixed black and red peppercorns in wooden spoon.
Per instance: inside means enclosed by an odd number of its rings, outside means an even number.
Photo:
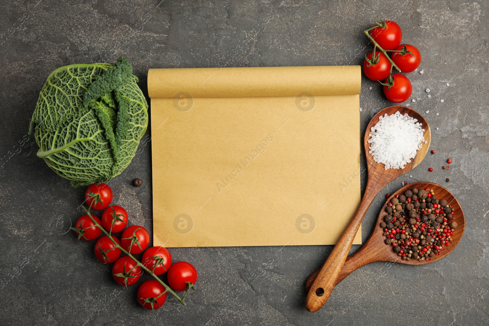
[[[445,199],[437,199],[433,189],[413,188],[391,198],[385,208],[387,215],[380,227],[385,243],[402,260],[426,260],[440,255],[450,244],[458,224],[454,211]]]

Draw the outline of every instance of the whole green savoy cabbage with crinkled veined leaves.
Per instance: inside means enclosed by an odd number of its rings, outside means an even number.
[[[133,66],[66,65],[39,94],[30,133],[37,156],[74,187],[109,181],[131,163],[148,126],[148,104]]]

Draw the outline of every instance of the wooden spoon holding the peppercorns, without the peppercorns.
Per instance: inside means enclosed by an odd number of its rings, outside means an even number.
[[[411,190],[413,188],[433,189],[437,199],[445,199],[448,202],[448,205],[450,205],[452,210],[455,212],[452,220],[458,223],[458,227],[455,229],[453,236],[450,238],[451,239],[450,244],[447,247],[445,247],[445,250],[440,251],[440,255],[435,255],[433,257],[430,257],[430,261],[426,261],[426,260],[417,261],[414,259],[411,259],[410,261],[403,261],[401,257],[399,257],[392,250],[391,245],[387,245],[384,243],[384,240],[386,239],[385,236],[383,235],[384,230],[379,226],[380,222],[382,222],[384,220],[384,217],[387,215],[385,208],[387,207],[387,203],[389,202],[389,200],[395,197],[396,195],[404,194],[406,190]],[[371,262],[393,261],[393,262],[400,262],[402,264],[409,264],[409,265],[424,265],[430,262],[438,261],[444,258],[449,253],[451,253],[453,249],[455,249],[460,239],[462,239],[464,230],[465,230],[464,212],[462,211],[462,208],[460,207],[460,204],[455,198],[455,196],[453,196],[448,190],[446,190],[444,187],[436,183],[431,183],[431,182],[415,182],[415,183],[408,184],[407,186],[402,187],[396,193],[390,196],[389,199],[385,202],[384,206],[382,206],[382,210],[378,215],[377,224],[374,227],[374,231],[372,232],[372,235],[355,254],[348,257],[348,259],[345,261],[345,265],[343,266],[343,269],[341,270],[341,273],[338,275],[338,278],[336,279],[335,284],[340,283],[345,277],[347,277],[351,272],[353,272],[357,268],[369,264]],[[306,290],[309,290],[312,282],[314,282],[314,279],[316,278],[318,273],[319,270],[311,274],[311,276],[306,282]]]

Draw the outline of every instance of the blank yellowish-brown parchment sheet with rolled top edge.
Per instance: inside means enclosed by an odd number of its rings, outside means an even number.
[[[150,69],[148,91],[155,245],[336,242],[360,202],[359,66]]]

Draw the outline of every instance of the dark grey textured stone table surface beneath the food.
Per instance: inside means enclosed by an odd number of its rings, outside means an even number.
[[[0,325],[489,324],[488,1],[1,0],[0,7]],[[332,246],[174,248],[176,260],[197,267],[198,290],[187,306],[168,297],[153,314],[137,304],[135,286],[114,283],[111,266],[94,259],[92,242],[68,232],[83,214],[85,188],[54,174],[26,134],[53,69],[124,55],[147,96],[148,68],[360,65],[371,49],[362,31],[377,16],[398,22],[403,40],[421,50],[420,69],[409,74],[416,102],[407,103],[430,124],[437,153],[377,196],[362,239],[385,193],[403,181],[436,182],[466,215],[464,237],[444,260],[372,263],[310,313],[305,280]],[[390,105],[381,86],[362,77],[361,132]],[[110,185],[114,202],[151,233],[150,139],[148,129]],[[451,169],[442,170],[448,157]],[[132,186],[135,177],[142,187]],[[365,179],[364,172],[362,189]]]

